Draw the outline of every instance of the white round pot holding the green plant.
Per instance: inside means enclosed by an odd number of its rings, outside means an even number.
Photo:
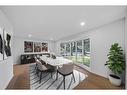
[[[113,75],[113,74],[109,75],[109,80],[110,80],[111,84],[113,84],[114,86],[120,86],[121,81],[122,81],[119,76]]]

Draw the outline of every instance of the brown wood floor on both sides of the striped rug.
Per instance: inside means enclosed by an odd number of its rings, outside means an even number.
[[[77,85],[74,89],[124,89],[123,86],[115,87],[110,84],[109,80],[92,74],[87,70],[75,66],[75,69],[88,75],[88,77]],[[6,89],[30,89],[29,64],[14,65],[14,77]]]

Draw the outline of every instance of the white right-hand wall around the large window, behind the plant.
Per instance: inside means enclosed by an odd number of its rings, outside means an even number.
[[[90,38],[91,41],[91,72],[107,77],[108,69],[104,64],[107,61],[109,48],[115,42],[124,48],[124,19],[68,37],[56,42],[56,46],[59,47],[60,42],[83,38]],[[57,55],[60,54],[59,48],[56,48],[56,53]]]

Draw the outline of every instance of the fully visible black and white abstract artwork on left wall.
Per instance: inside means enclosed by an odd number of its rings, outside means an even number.
[[[11,35],[4,30],[4,59],[11,56]]]

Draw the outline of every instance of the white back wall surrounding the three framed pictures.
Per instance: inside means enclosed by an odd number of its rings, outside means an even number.
[[[37,40],[32,38],[18,38],[14,37],[14,64],[20,64],[20,56],[21,54],[28,54],[24,53],[24,41],[32,41],[32,42],[46,42],[48,43],[48,50],[50,52],[54,52],[54,42],[53,41],[45,41],[45,40]],[[33,52],[34,53],[34,52]],[[31,54],[31,53],[30,53]]]

